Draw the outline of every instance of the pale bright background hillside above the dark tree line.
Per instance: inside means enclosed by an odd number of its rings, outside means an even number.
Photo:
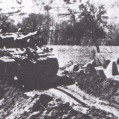
[[[24,17],[28,16],[29,13],[41,13],[46,14],[47,12],[54,17],[55,21],[61,22],[62,20],[67,20],[70,18],[69,9],[73,11],[75,15],[79,12],[79,4],[85,3],[86,0],[70,0],[70,2],[65,2],[65,0],[1,0],[0,8],[1,13],[8,14],[11,19],[15,22],[21,21]],[[118,1],[110,0],[91,0],[96,6],[99,4],[104,4],[107,10],[107,15],[109,16],[109,22],[118,23]],[[48,7],[49,8],[48,8]],[[48,11],[46,9],[48,8]]]

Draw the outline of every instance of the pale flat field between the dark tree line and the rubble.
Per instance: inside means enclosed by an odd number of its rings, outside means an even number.
[[[91,61],[94,56],[96,48],[94,46],[48,46],[53,48],[56,54],[60,67],[68,64],[78,63],[84,65]],[[115,59],[119,56],[118,46],[100,46],[101,55],[105,59]]]

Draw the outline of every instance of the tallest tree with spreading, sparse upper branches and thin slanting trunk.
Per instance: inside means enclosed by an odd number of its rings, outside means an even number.
[[[95,7],[88,1],[86,4],[81,4],[79,9],[80,24],[85,28],[83,35],[91,38],[97,48],[97,52],[100,52],[98,41],[106,36],[104,28],[107,24],[107,16],[104,5]]]

